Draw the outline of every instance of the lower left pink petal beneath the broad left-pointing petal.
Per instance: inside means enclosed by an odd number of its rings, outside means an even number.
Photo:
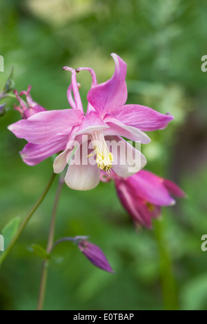
[[[20,152],[21,158],[28,165],[36,165],[47,159],[49,156],[64,150],[68,141],[68,135],[57,135],[46,144],[28,143]]]

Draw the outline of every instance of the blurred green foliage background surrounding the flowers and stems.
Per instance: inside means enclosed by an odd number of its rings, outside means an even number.
[[[0,89],[14,65],[17,90],[31,84],[32,97],[43,107],[68,108],[70,74],[61,68],[90,66],[99,82],[106,81],[114,70],[110,53],[116,52],[128,63],[128,103],[175,116],[166,130],[149,134],[152,143],[142,151],[149,170],[177,181],[188,194],[175,207],[164,208],[164,240],[179,308],[205,310],[207,263],[201,236],[207,232],[207,74],[201,72],[201,57],[207,54],[206,1],[7,0],[1,1],[0,11],[5,61]],[[86,107],[90,75],[80,72],[78,81]],[[12,107],[14,101],[7,102]],[[35,167],[21,161],[17,152],[25,141],[7,130],[18,119],[18,112],[10,110],[0,121],[1,228],[28,212],[52,172],[50,159]],[[30,245],[46,247],[56,185],[3,264],[1,310],[37,305],[41,259]],[[60,245],[50,261],[47,310],[164,309],[155,232],[135,232],[113,183],[101,183],[91,192],[63,188],[55,237],[77,234],[90,235],[116,274],[93,267],[75,245]]]

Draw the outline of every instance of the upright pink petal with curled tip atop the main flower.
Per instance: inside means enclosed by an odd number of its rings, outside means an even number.
[[[127,99],[126,63],[117,54],[111,56],[115,61],[115,73],[110,80],[91,88],[87,97],[101,117],[117,110]]]

